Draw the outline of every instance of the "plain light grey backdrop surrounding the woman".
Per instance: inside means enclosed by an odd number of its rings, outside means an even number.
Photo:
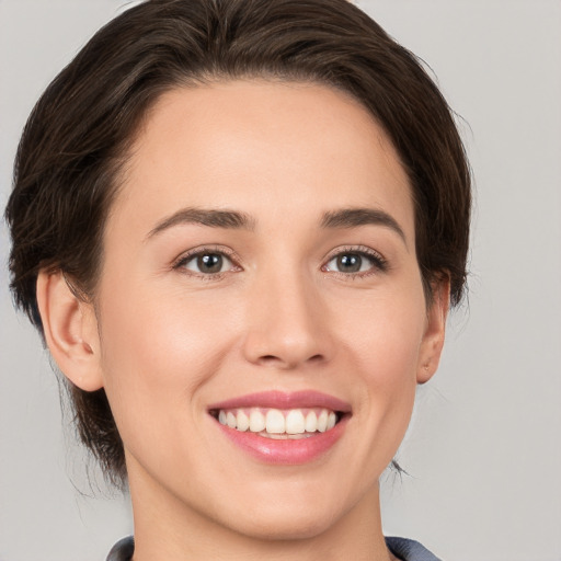
[[[0,0],[2,209],[34,102],[123,3]],[[409,476],[383,478],[385,531],[447,561],[560,561],[561,2],[358,5],[431,65],[477,188],[469,306],[419,391],[399,453]],[[8,251],[2,225],[0,560],[103,560],[131,531],[128,500],[88,483],[48,356],[13,311]]]

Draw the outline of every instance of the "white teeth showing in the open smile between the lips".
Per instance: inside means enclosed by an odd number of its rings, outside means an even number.
[[[209,411],[221,425],[264,438],[301,439],[331,431],[345,413],[325,408],[234,408]]]

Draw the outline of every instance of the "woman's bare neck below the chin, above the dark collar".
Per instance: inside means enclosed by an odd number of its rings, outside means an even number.
[[[135,518],[134,561],[390,561],[381,531],[378,485],[351,510],[305,537],[247,535],[186,504],[146,472],[129,469]]]

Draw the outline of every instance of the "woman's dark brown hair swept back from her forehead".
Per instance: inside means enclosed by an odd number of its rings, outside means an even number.
[[[47,88],[19,146],[5,217],[12,290],[42,331],[41,270],[94,294],[104,220],[136,129],[182,84],[237,78],[327,84],[357,99],[386,129],[415,204],[427,297],[447,275],[451,304],[466,279],[470,173],[450,110],[416,58],[346,0],[152,0],[101,28]],[[69,383],[69,382],[68,382]],[[82,442],[114,482],[123,443],[103,389],[69,383]]]

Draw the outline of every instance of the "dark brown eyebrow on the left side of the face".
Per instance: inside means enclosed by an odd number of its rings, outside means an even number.
[[[186,224],[237,230],[252,230],[255,227],[255,220],[245,213],[206,208],[183,208],[158,222],[158,225],[150,230],[147,239],[174,226]]]

